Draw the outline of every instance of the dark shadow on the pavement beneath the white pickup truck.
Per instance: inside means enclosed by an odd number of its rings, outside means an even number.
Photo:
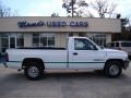
[[[39,81],[46,81],[46,79],[111,79],[106,77],[103,73],[97,73],[95,71],[73,71],[73,72],[45,72],[44,76]],[[119,77],[115,79],[126,79],[129,78],[129,76],[124,73],[122,73]],[[3,78],[0,78],[1,82],[27,82],[28,79],[25,77],[23,72],[13,72],[10,74],[4,75]]]

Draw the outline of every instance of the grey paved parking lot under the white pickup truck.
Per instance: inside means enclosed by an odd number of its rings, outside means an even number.
[[[0,98],[131,98],[131,63],[119,78],[94,71],[48,71],[40,81],[0,66]]]

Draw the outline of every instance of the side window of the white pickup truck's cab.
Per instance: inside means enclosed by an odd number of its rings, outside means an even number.
[[[97,50],[96,46],[93,45],[87,39],[74,39],[74,49],[75,50]]]

